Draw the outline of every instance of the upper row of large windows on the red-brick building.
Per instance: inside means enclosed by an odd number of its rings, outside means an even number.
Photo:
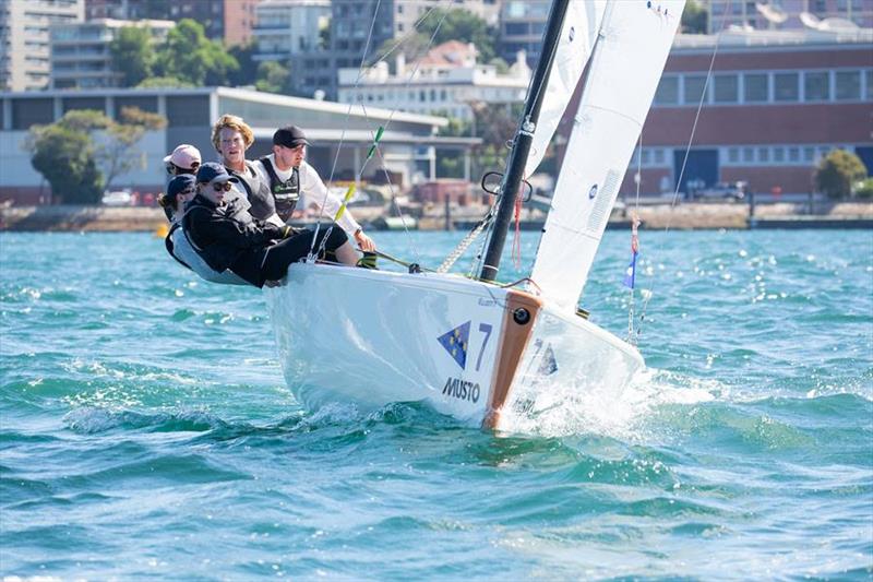
[[[704,93],[705,92],[705,93]],[[823,103],[873,99],[873,69],[667,74],[655,93],[655,106],[766,103]]]

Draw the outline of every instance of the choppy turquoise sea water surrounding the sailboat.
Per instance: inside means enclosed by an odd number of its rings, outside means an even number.
[[[458,236],[376,239],[436,264]],[[583,305],[623,335],[627,235],[606,242]],[[650,369],[495,436],[302,411],[260,292],[150,236],[1,234],[0,572],[870,580],[873,234],[643,245]]]

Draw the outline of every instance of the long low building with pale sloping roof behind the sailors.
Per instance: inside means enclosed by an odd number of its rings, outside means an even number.
[[[394,177],[399,189],[435,178],[436,147],[468,152],[480,143],[473,138],[438,136],[446,124],[439,117],[388,111],[376,107],[350,107],[338,103],[286,97],[256,91],[204,87],[190,90],[45,91],[0,93],[0,201],[17,204],[50,199],[47,183],[33,169],[24,144],[34,124],[51,123],[72,109],[97,109],[118,119],[123,107],[139,107],[167,118],[167,127],[147,132],[130,151],[141,163],[120,176],[113,186],[140,192],[159,192],[167,175],[164,156],[179,143],[200,149],[204,159],[216,159],[210,135],[222,114],[242,116],[252,127],[255,143],[247,156],[270,153],[273,132],[291,122],[306,129],[312,142],[307,158],[325,181],[363,179],[384,183]],[[380,153],[364,159],[376,129],[385,128]]]

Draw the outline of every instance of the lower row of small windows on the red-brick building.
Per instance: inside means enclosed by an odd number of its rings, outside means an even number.
[[[730,145],[718,149],[721,166],[814,166],[832,150],[853,150],[849,144],[804,145]],[[637,147],[631,158],[631,169],[665,168],[673,165],[673,147]]]

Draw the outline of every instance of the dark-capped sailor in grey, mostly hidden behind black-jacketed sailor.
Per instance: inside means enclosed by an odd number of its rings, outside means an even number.
[[[176,176],[167,186],[167,193],[158,198],[158,203],[164,206],[164,212],[168,212],[170,229],[164,238],[164,246],[170,257],[176,259],[182,266],[190,269],[201,278],[211,283],[224,283],[226,285],[248,285],[232,271],[218,272],[212,269],[206,261],[198,254],[191,241],[182,229],[182,216],[184,206],[190,202],[196,192],[196,179],[192,174],[180,174]],[[240,203],[242,199],[239,199]]]

